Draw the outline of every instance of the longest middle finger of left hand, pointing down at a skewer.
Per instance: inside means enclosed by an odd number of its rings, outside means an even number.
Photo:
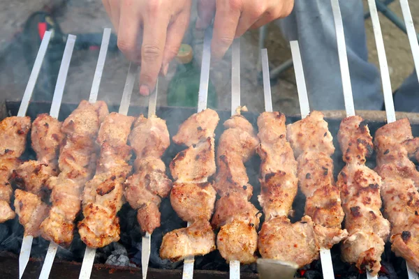
[[[169,17],[159,14],[157,10],[150,9],[144,19],[140,70],[140,94],[143,96],[149,95],[156,85],[166,45]]]

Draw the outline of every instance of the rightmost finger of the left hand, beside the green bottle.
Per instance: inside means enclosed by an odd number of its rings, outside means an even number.
[[[167,74],[170,61],[172,61],[172,59],[177,55],[177,52],[179,52],[179,47],[182,44],[182,38],[184,37],[186,29],[188,29],[189,13],[189,9],[182,11],[182,13],[175,18],[174,22],[172,22],[168,28],[161,68],[163,75]]]

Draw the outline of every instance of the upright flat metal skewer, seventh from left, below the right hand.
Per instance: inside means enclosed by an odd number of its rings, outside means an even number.
[[[240,107],[240,38],[233,41],[231,54],[231,116]],[[230,261],[230,279],[240,278],[240,262]]]

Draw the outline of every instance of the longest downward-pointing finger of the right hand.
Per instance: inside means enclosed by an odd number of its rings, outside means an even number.
[[[240,0],[217,0],[212,34],[211,50],[216,59],[221,59],[235,38],[240,19]]]

